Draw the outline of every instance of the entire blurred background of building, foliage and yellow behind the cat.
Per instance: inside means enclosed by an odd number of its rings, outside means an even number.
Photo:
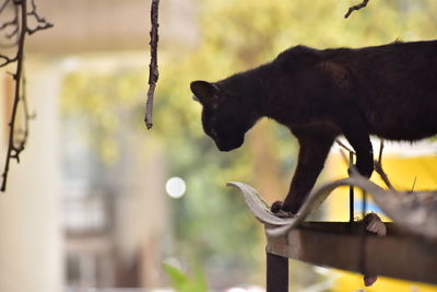
[[[261,120],[244,147],[218,152],[202,131],[189,83],[223,79],[298,44],[361,47],[437,36],[435,0],[370,1],[344,20],[356,2],[162,1],[161,74],[147,131],[150,1],[37,0],[55,27],[27,38],[36,119],[0,194],[0,291],[172,291],[169,277],[179,271],[191,281],[187,291],[264,291],[262,226],[225,184],[248,183],[269,202],[283,198],[296,141]],[[0,70],[5,155],[13,80],[10,68]],[[389,143],[385,168],[400,189],[436,189],[436,153],[433,141]],[[344,177],[346,168],[333,149],[319,182]],[[347,220],[345,196],[333,194],[315,218]],[[291,265],[291,291],[363,288],[358,275]],[[366,291],[437,289],[379,279]]]

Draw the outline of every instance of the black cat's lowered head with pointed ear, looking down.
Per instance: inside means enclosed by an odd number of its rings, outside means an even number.
[[[193,98],[200,102],[204,132],[210,136],[218,150],[231,151],[239,148],[246,131],[253,125],[247,118],[247,108],[239,98],[225,93],[216,83],[191,82]]]

